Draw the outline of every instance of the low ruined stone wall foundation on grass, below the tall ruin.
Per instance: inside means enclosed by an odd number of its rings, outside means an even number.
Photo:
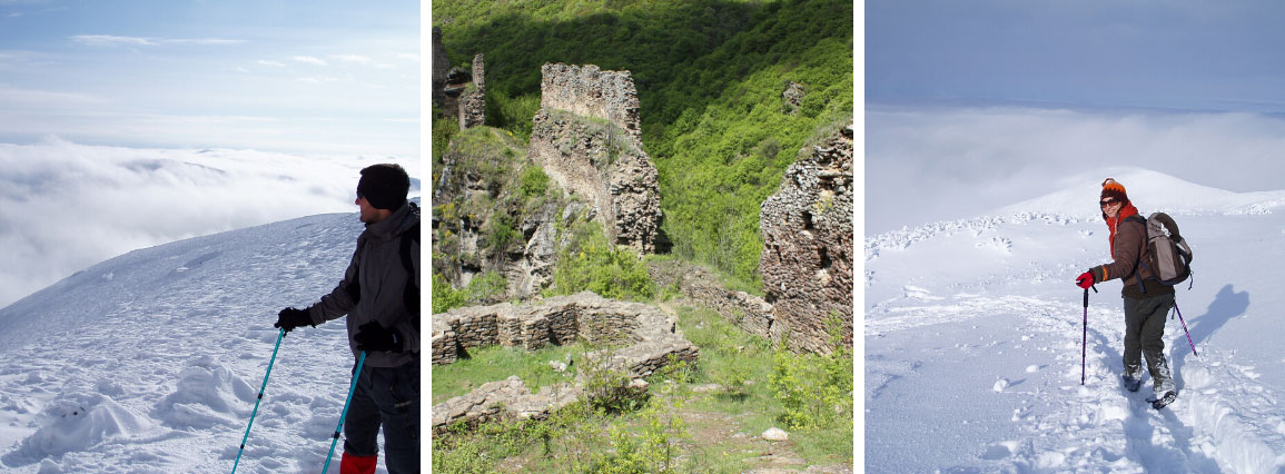
[[[642,303],[618,302],[583,292],[531,304],[509,303],[455,308],[433,315],[433,364],[455,362],[461,352],[483,346],[536,349],[583,338],[627,347],[598,355],[607,367],[632,379],[660,370],[671,360],[695,362],[700,351],[677,330],[677,320]],[[517,376],[493,382],[433,407],[433,433],[464,421],[475,425],[497,416],[545,417],[580,397],[582,380],[545,387],[538,394]]]

